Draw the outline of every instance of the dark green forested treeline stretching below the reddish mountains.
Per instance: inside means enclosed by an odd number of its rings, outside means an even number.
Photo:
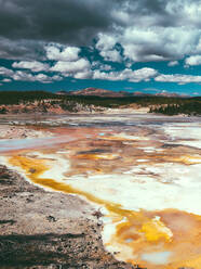
[[[201,97],[180,98],[180,97],[156,97],[156,95],[136,95],[136,97],[94,97],[94,95],[67,95],[56,94],[46,91],[0,91],[0,105],[26,104],[35,101],[46,101],[58,103],[66,110],[67,104],[73,106],[73,103],[82,105],[94,105],[102,107],[121,107],[131,104],[150,107],[150,113],[162,113],[166,115],[188,114],[201,115]],[[72,107],[70,107],[71,110]]]

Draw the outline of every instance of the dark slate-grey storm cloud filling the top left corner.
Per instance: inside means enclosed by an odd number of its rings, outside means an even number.
[[[84,44],[111,26],[110,12],[118,2],[0,0],[0,34],[12,40]]]

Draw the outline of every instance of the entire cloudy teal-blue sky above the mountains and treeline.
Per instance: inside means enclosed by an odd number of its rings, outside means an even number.
[[[0,90],[201,95],[201,0],[0,0]]]

